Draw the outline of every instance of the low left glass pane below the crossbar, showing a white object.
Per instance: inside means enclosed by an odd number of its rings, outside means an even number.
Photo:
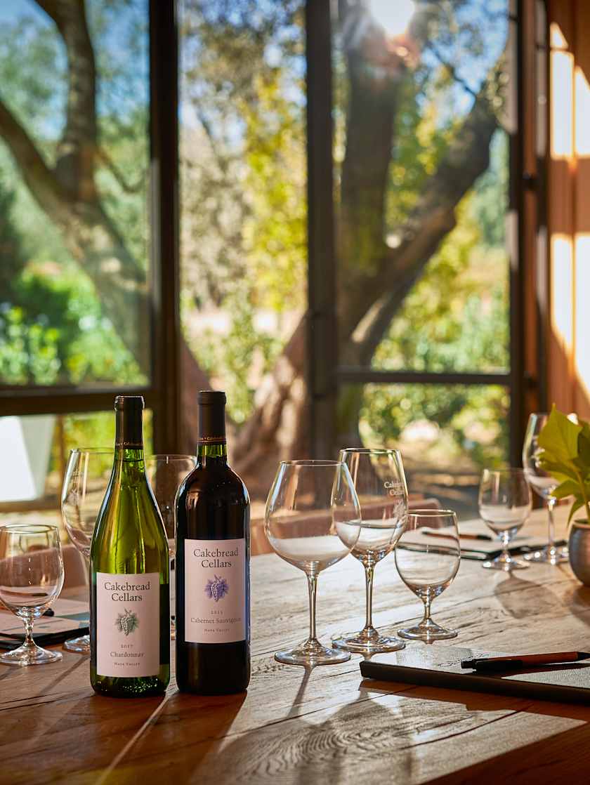
[[[152,448],[152,411],[144,412],[146,453]],[[70,450],[112,447],[114,411],[84,414],[27,414],[0,418],[0,518],[51,510],[60,520],[60,494]],[[57,513],[57,516],[56,516]],[[35,513],[37,514],[37,513]],[[4,521],[5,522],[5,521]]]

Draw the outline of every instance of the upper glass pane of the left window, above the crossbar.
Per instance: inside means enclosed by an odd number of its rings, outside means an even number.
[[[0,384],[144,383],[148,0],[0,5]]]

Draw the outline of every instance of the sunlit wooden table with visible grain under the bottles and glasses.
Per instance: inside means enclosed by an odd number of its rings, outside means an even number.
[[[533,519],[544,531],[544,514]],[[359,628],[364,600],[352,557],[321,575],[324,640]],[[568,566],[508,577],[464,560],[433,607],[459,630],[457,645],[590,648],[590,589]],[[387,557],[376,623],[419,615]],[[363,681],[357,656],[310,672],[282,666],[273,652],[305,637],[307,597],[302,573],[274,554],[252,561],[252,616],[247,696],[185,696],[171,684],[163,699],[106,699],[90,688],[88,659],[69,652],[38,668],[0,665],[0,783],[590,782],[590,706]]]

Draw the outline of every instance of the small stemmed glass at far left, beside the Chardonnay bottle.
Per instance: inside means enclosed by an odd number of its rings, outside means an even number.
[[[61,659],[33,640],[33,623],[64,586],[60,533],[46,524],[0,527],[0,600],[24,622],[24,644],[0,655],[5,665],[41,665]]]

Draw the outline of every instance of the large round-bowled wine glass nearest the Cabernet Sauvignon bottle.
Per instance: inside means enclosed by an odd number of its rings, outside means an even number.
[[[289,564],[304,571],[310,594],[310,636],[274,656],[290,665],[345,663],[350,652],[323,646],[316,637],[317,576],[354,548],[361,510],[346,463],[283,461],[269,491],[265,532]]]

